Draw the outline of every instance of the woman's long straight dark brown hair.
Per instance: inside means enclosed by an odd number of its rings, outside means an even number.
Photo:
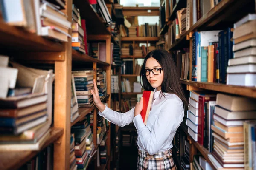
[[[183,89],[180,84],[180,79],[177,75],[177,68],[175,62],[167,51],[165,50],[154,50],[148,53],[143,62],[142,68],[140,70],[140,84],[147,91],[154,91],[154,88],[148,82],[145,76],[145,65],[149,58],[153,57],[159,62],[163,68],[163,82],[161,85],[162,95],[163,93],[176,94],[183,102],[187,105],[186,98],[184,96]]]

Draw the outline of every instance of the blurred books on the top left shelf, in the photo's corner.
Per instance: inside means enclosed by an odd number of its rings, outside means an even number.
[[[67,42],[68,29],[71,23],[61,9],[65,8],[66,0],[17,1],[3,0],[3,19],[12,26],[22,26],[26,30],[49,39]],[[18,17],[17,17],[18,16]]]

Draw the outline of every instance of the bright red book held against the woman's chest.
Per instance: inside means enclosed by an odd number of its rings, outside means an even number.
[[[140,112],[143,122],[146,125],[148,121],[148,115],[150,112],[151,104],[152,104],[152,99],[154,96],[153,91],[143,91],[142,97],[143,97],[143,109]]]

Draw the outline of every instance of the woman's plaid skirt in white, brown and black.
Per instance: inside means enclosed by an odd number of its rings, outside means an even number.
[[[171,149],[154,155],[141,150],[138,153],[138,170],[177,170]]]

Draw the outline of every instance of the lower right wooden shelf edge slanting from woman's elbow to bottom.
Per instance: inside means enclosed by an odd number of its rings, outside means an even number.
[[[215,170],[215,167],[212,164],[212,161],[210,161],[208,157],[208,155],[210,154],[208,150],[205,147],[203,147],[201,144],[198,144],[198,142],[195,142],[195,140],[189,135],[188,128],[185,125],[183,125],[183,123],[181,123],[180,127],[186,133],[186,135],[189,136],[189,139],[192,142],[192,144],[199,150],[202,156],[204,156],[204,159],[207,160],[207,162],[211,165],[212,169]]]

